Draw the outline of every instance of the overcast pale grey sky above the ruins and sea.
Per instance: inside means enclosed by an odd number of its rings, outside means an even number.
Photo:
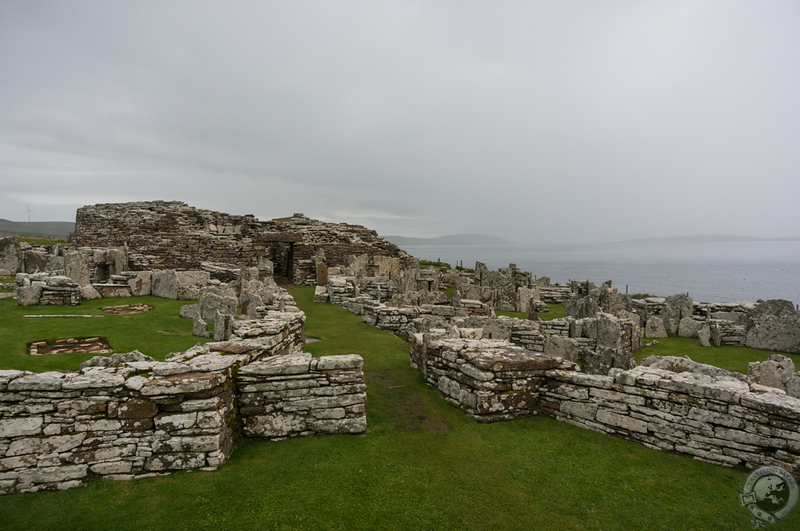
[[[0,218],[800,236],[800,2],[0,2]]]

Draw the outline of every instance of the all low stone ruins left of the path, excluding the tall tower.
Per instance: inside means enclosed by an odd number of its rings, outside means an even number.
[[[249,268],[202,262],[201,270],[131,271],[127,247],[4,241],[11,244],[0,248],[16,252],[24,270],[16,277],[21,305],[198,299],[181,316],[200,337],[213,323],[214,341],[164,362],[133,352],[92,358],[77,372],[0,370],[0,494],[67,489],[90,474],[133,479],[215,470],[240,436],[366,430],[363,360],[302,351],[305,315],[275,283],[269,260]]]

